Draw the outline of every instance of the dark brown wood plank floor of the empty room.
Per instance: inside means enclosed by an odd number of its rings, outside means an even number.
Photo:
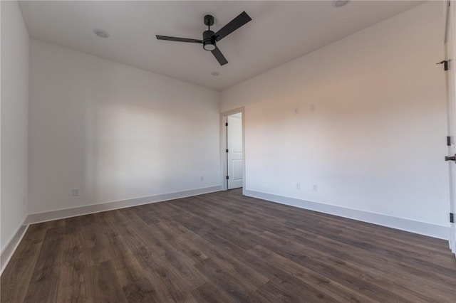
[[[447,242],[239,190],[31,225],[1,302],[456,302]]]

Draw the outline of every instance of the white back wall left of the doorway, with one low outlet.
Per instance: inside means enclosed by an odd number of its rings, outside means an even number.
[[[30,213],[220,185],[219,92],[34,40],[30,72]]]

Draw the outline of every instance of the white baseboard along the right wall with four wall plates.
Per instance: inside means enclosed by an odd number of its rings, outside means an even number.
[[[335,216],[350,218],[367,223],[388,226],[399,230],[409,231],[411,233],[418,233],[420,235],[428,235],[433,238],[450,239],[450,227],[435,225],[430,223],[419,222],[404,218],[393,216],[381,215],[380,213],[370,213],[368,211],[358,211],[356,209],[344,208],[341,206],[333,206],[329,204],[317,203],[312,201],[300,200],[296,198],[289,198],[285,196],[277,196],[272,193],[262,193],[259,191],[244,190],[244,195],[263,200],[286,204],[289,206],[296,206],[299,208],[309,209],[311,211],[318,211],[321,213],[328,213]]]

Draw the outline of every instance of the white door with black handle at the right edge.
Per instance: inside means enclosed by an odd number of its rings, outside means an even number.
[[[448,161],[450,171],[450,212],[456,213],[456,161],[452,156],[456,156],[456,1],[447,2],[447,26],[445,28],[445,51],[448,60],[447,70],[447,90],[448,90],[448,136],[450,144],[448,146],[448,155],[445,158]],[[456,215],[453,215],[456,216]],[[456,220],[456,218],[455,218]],[[456,254],[456,224],[451,223],[450,248]]]

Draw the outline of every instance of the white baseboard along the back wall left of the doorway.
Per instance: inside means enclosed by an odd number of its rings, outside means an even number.
[[[177,198],[185,198],[190,196],[202,195],[203,193],[213,193],[220,191],[221,186],[211,186],[205,188],[190,189],[189,191],[177,191],[175,193],[164,193],[156,196],[147,196],[142,198],[133,198],[128,200],[113,201],[92,204],[88,206],[79,206],[75,208],[60,209],[57,211],[46,211],[44,213],[31,213],[28,215],[26,223],[40,223],[51,220],[71,218],[76,216],[87,215],[89,213],[100,213],[102,211],[113,211],[114,209],[127,208],[131,206],[139,206],[142,204],[155,203],[160,201],[173,200]]]

